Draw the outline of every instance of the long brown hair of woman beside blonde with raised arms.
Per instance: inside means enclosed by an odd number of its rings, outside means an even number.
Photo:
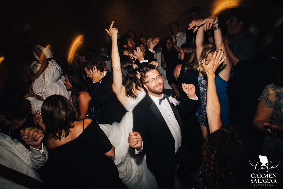
[[[199,72],[198,72],[198,61],[196,59],[196,46],[192,43],[184,43],[181,45],[181,49],[183,49],[184,54],[185,54],[184,59],[183,59],[183,64],[186,65],[184,76],[185,76],[187,69],[190,66],[192,66],[193,69],[198,74]]]

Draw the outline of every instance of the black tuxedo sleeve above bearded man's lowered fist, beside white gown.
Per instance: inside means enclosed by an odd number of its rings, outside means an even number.
[[[143,151],[141,151],[138,156],[144,155],[146,152],[146,145],[147,145],[147,123],[145,122],[142,111],[138,108],[133,109],[133,132],[138,132],[141,135],[141,139],[143,141]],[[135,150],[135,149],[133,149]]]

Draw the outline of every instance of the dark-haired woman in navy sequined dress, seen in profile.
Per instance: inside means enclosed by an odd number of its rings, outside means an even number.
[[[93,106],[89,87],[82,75],[77,71],[70,71],[65,75],[64,84],[67,90],[72,90],[70,101],[80,110],[80,119],[89,118],[99,124],[99,111]]]

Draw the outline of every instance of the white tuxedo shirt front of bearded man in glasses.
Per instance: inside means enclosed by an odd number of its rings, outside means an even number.
[[[164,94],[162,94],[162,96],[163,95]],[[177,119],[175,118],[171,105],[167,99],[162,100],[161,104],[159,105],[160,98],[156,96],[152,96],[151,94],[149,94],[149,96],[153,100],[153,102],[156,104],[171,134],[173,135],[175,139],[175,153],[177,153],[182,143],[182,136],[181,136],[181,128],[179,126]]]

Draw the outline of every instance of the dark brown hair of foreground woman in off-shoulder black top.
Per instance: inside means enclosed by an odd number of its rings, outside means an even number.
[[[46,135],[52,134],[50,138],[61,139],[67,137],[74,121],[80,120],[80,111],[76,106],[64,96],[54,94],[48,96],[42,106],[42,119],[46,126]]]

